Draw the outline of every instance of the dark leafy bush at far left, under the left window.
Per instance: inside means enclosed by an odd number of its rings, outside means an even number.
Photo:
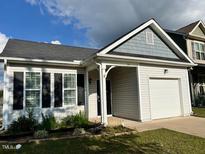
[[[10,124],[8,132],[16,134],[22,132],[33,132],[36,130],[38,122],[33,116],[33,110],[27,112],[28,116],[21,116]]]

